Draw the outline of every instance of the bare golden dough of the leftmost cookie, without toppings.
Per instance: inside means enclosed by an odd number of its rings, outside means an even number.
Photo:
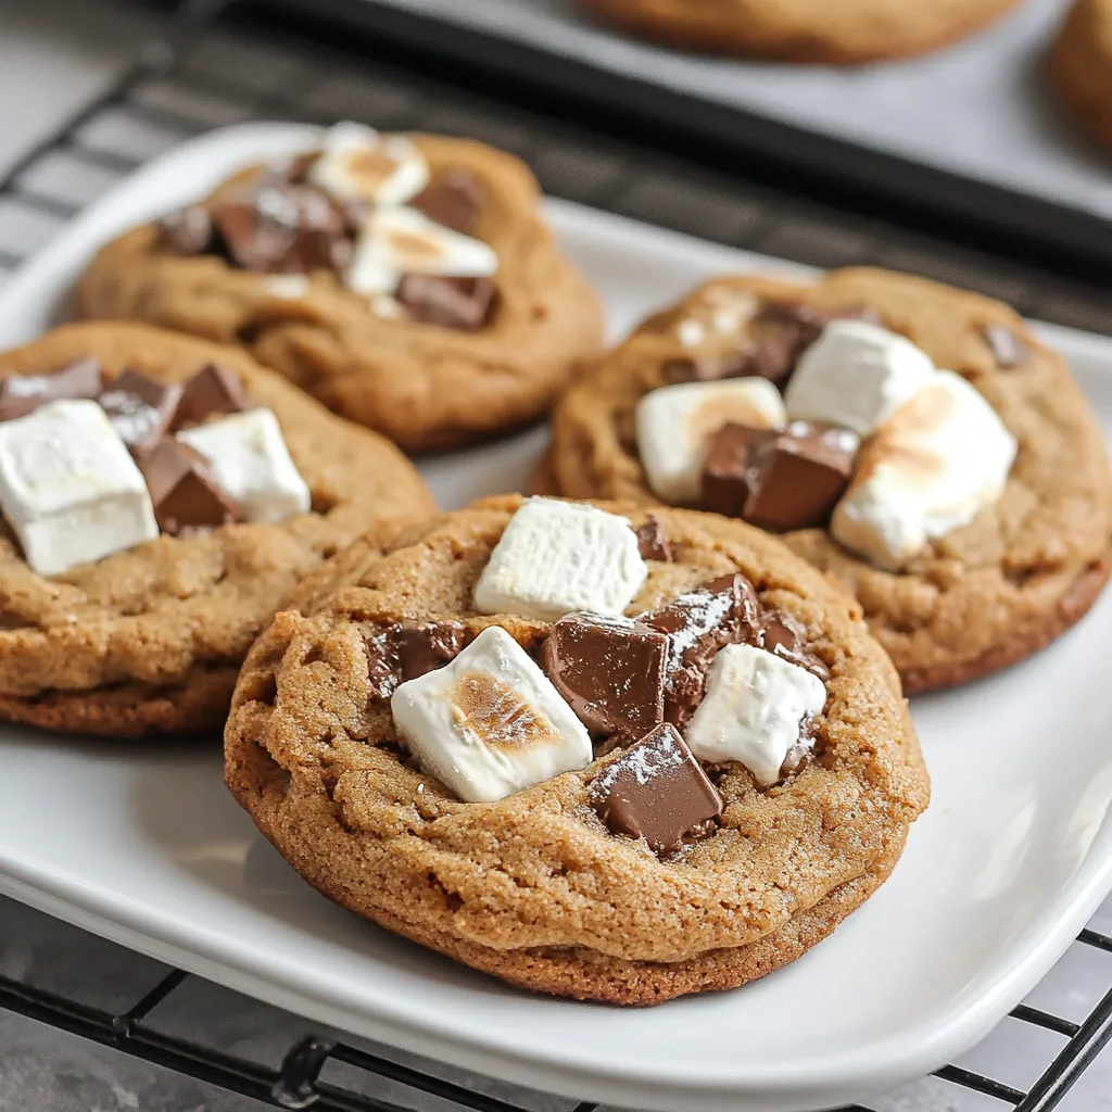
[[[245,353],[139,325],[54,329],[0,355],[0,381],[95,357],[181,381],[209,363],[278,418],[312,509],[157,539],[62,575],[37,575],[0,538],[0,717],[108,736],[217,728],[240,664],[290,588],[376,520],[423,516],[431,495],[387,440],[334,417]]]

